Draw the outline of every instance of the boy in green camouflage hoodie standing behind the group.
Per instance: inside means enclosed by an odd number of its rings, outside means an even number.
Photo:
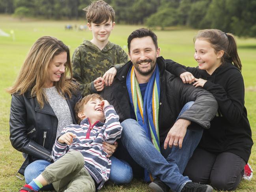
[[[80,82],[82,95],[85,96],[101,91],[105,84],[110,85],[116,70],[105,72],[112,65],[126,63],[128,56],[119,45],[108,41],[115,25],[114,9],[100,0],[92,2],[83,10],[86,11],[87,26],[92,31],[93,39],[85,40],[75,49],[72,71],[73,77]]]

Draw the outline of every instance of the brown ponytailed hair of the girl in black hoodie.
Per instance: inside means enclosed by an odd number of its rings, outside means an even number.
[[[194,42],[196,39],[205,39],[214,48],[215,52],[220,50],[224,51],[224,55],[221,58],[221,62],[229,62],[235,65],[241,72],[242,64],[237,53],[237,45],[234,35],[230,33],[224,33],[217,29],[206,29],[200,30],[198,34],[194,37]]]

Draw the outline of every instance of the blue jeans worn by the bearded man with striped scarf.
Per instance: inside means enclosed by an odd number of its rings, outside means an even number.
[[[192,103],[185,105],[181,114],[191,105]],[[191,181],[182,173],[200,142],[203,130],[197,132],[187,130],[182,148],[168,147],[168,149],[163,150],[162,147],[162,155],[147,138],[146,132],[136,120],[126,119],[121,123],[121,126],[123,127],[121,142],[135,162],[147,169],[153,177],[158,177],[174,192],[180,192],[183,186]]]

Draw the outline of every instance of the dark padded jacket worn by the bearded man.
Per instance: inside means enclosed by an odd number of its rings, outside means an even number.
[[[170,128],[174,125],[176,118],[185,103],[195,101],[191,108],[181,115],[181,119],[192,121],[191,129],[203,127],[208,129],[210,121],[217,112],[217,101],[213,95],[204,89],[196,89],[191,85],[183,84],[180,78],[165,70],[163,57],[157,58],[160,69],[160,99],[159,99],[159,136],[163,144]],[[126,88],[126,76],[132,66],[131,61],[118,69],[112,86],[105,87],[101,92],[104,99],[112,104],[120,117],[120,122],[131,116],[131,106]],[[194,123],[193,123],[194,122]]]

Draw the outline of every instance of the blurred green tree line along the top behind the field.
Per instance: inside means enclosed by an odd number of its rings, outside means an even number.
[[[105,0],[116,22],[148,27],[217,28],[256,37],[256,0]],[[79,19],[92,0],[0,0],[0,13],[46,19]]]

